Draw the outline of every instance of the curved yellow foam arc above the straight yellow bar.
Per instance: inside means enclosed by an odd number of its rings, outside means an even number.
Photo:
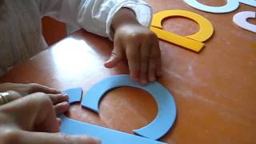
[[[195,14],[187,10],[165,10],[158,12],[157,14],[154,14],[151,26],[162,29],[163,19],[177,16],[190,18],[194,22],[197,22],[200,27],[198,33],[186,36],[186,38],[191,38],[198,42],[204,42],[209,39],[212,34],[214,34],[214,26],[210,23],[210,21],[208,21],[206,18],[202,17],[199,14]]]

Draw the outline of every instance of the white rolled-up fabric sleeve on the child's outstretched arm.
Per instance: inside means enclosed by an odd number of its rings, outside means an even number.
[[[85,30],[112,38],[114,14],[123,7],[134,10],[142,26],[150,26],[151,7],[141,0],[37,0],[42,16],[80,26]]]

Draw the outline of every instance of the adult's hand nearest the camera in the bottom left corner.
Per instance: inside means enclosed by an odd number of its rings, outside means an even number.
[[[3,143],[78,143],[98,140],[85,135],[60,134],[54,100],[50,94],[34,93],[0,106],[0,139]]]

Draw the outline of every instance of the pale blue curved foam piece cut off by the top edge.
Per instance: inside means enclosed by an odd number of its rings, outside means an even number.
[[[255,0],[226,0],[225,6],[206,6],[198,2],[197,0],[184,0],[184,2],[194,7],[195,9],[206,11],[209,13],[229,13],[238,9],[239,2],[249,6],[256,6]]]

